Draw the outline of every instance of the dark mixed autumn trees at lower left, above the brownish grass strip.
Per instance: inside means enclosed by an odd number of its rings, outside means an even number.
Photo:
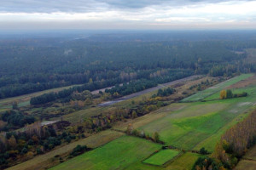
[[[15,161],[26,161],[52,150],[62,143],[70,143],[77,136],[70,133],[56,133],[57,127],[41,126],[40,122],[24,128],[24,132],[9,132],[0,135],[0,168],[6,168]],[[84,136],[79,136],[84,138]],[[84,148],[83,148],[84,150]],[[74,150],[73,154],[79,151]]]

